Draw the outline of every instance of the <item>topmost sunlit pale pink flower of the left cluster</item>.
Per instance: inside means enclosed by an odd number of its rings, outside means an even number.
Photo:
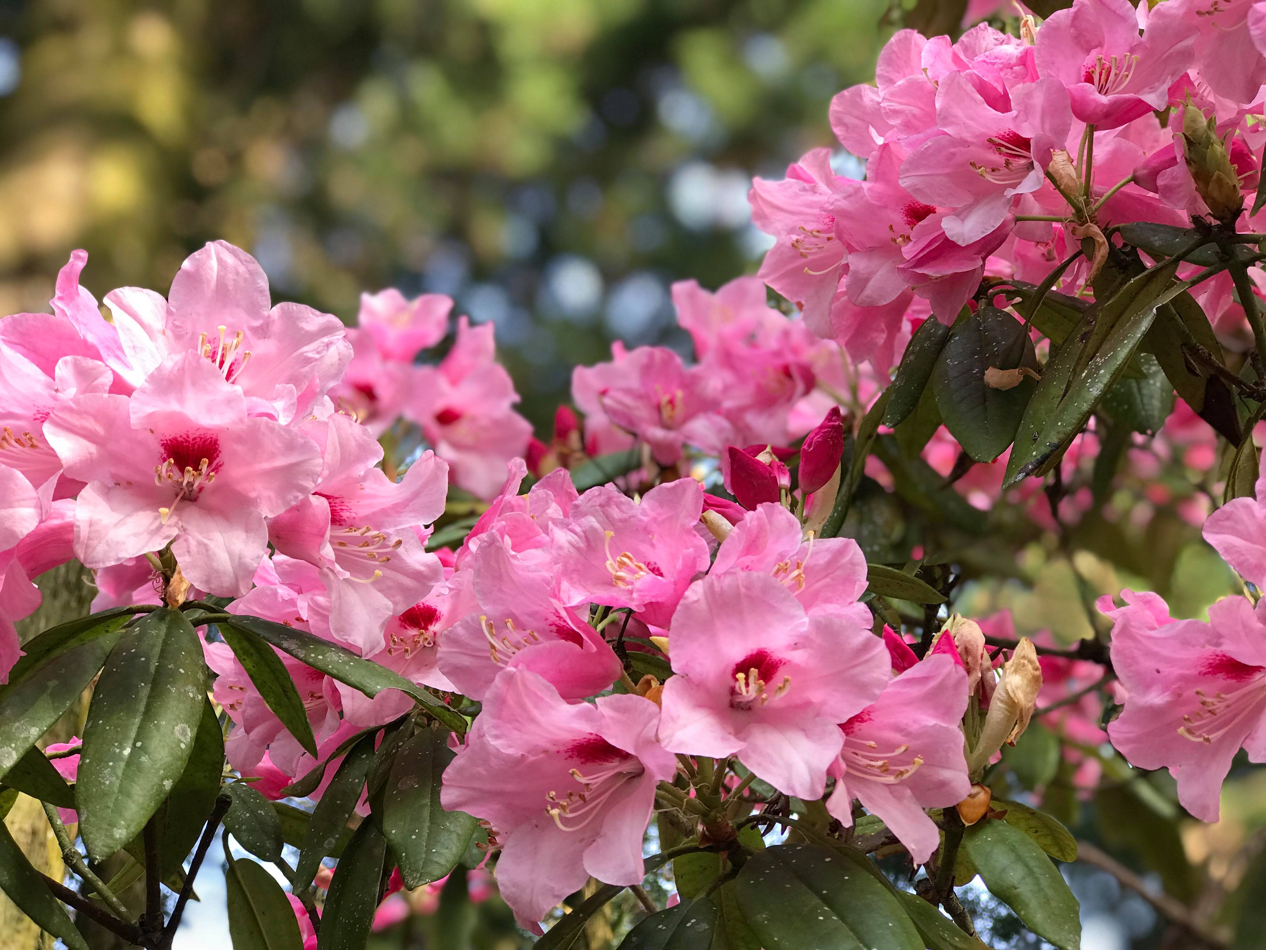
[[[141,386],[168,357],[194,352],[246,395],[251,415],[289,423],[324,402],[352,358],[337,317],[294,303],[271,305],[251,255],[213,241],[176,272],[167,299],[120,288],[105,295],[127,355],[106,362]]]

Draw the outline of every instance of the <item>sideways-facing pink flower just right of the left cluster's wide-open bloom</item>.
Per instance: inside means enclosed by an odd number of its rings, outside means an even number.
[[[448,466],[424,452],[395,483],[375,467],[382,447],[346,415],[300,431],[320,447],[320,478],[310,495],[270,521],[268,537],[281,554],[322,569],[334,636],[372,655],[387,618],[443,576],[418,537],[444,510]]]

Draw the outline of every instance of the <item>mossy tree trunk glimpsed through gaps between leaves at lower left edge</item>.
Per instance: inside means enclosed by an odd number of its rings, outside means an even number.
[[[30,617],[18,622],[18,636],[25,642],[48,627],[86,614],[95,593],[90,584],[91,574],[78,561],[63,564],[42,574],[35,586],[44,595],[44,600]],[[85,697],[49,730],[41,746],[48,742],[65,742],[80,731],[87,711],[86,695],[85,693]],[[39,802],[19,795],[4,823],[38,870],[54,880],[62,879],[65,868],[61,849],[53,837],[53,830],[48,827],[48,820]],[[39,927],[0,893],[0,950],[52,950],[52,939],[43,935]]]

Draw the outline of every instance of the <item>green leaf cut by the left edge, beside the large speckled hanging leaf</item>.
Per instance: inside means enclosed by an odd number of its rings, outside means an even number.
[[[114,618],[105,621],[101,631],[80,631],[76,636],[82,642],[63,640],[61,652],[46,651],[41,662],[0,694],[0,779],[80,698],[105,664],[125,621]],[[114,630],[104,631],[111,624]]]

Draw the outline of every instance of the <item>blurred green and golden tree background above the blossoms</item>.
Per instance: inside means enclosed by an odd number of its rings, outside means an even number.
[[[496,323],[538,427],[668,285],[755,270],[753,174],[833,141],[885,0],[0,0],[0,313],[67,253],[166,291],[213,238],[273,298]]]

